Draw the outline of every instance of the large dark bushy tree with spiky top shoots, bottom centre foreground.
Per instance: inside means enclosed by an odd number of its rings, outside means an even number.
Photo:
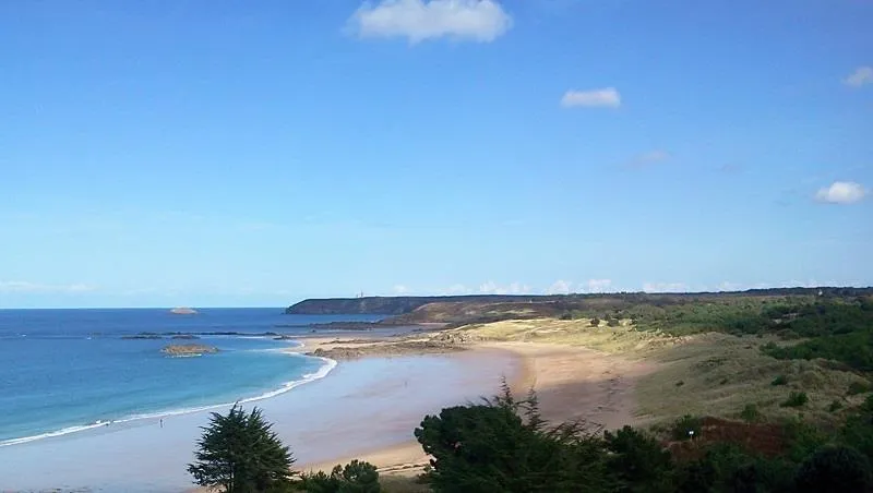
[[[428,416],[416,437],[431,459],[426,480],[438,493],[614,491],[602,441],[578,423],[549,426],[536,396],[509,388],[479,406]]]

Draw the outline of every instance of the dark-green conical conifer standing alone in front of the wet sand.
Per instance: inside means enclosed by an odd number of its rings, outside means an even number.
[[[188,465],[194,482],[229,493],[263,492],[288,483],[294,459],[261,410],[247,413],[234,405],[227,416],[212,413],[203,437]]]

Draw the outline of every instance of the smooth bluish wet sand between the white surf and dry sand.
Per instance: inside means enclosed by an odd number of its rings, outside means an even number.
[[[517,362],[493,348],[344,361],[325,378],[247,408],[263,409],[302,467],[404,445],[426,414],[493,395]],[[208,412],[195,412],[165,418],[164,428],[141,420],[0,447],[0,490],[187,491],[186,465],[207,422]]]

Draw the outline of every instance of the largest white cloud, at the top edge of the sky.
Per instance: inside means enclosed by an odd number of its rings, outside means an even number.
[[[412,44],[442,37],[490,43],[512,27],[512,17],[495,0],[382,0],[361,5],[349,27],[360,37]]]

